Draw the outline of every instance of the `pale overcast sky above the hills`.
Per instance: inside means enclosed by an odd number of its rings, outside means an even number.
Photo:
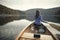
[[[46,9],[60,7],[60,0],[0,0],[0,4],[18,10],[27,10],[31,8]]]

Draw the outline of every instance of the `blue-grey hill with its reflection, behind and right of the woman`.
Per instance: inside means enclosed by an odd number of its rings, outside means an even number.
[[[29,9],[26,12],[27,19],[33,20],[34,15],[36,13],[36,10],[40,10],[40,13],[42,15],[43,20],[52,21],[52,22],[60,22],[60,7],[50,8],[50,9],[42,9],[42,8],[36,8],[36,9]]]

